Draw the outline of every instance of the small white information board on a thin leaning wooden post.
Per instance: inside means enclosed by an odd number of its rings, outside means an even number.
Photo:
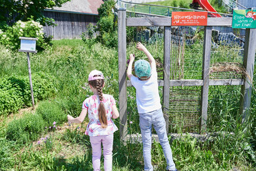
[[[31,91],[31,98],[32,98],[32,107],[33,107],[33,110],[34,110],[35,109],[35,102],[34,102],[34,93],[33,93],[31,68],[30,68],[30,53],[37,53],[37,51],[36,51],[36,41],[38,39],[33,38],[33,37],[19,37],[19,38],[20,38],[20,49],[18,51],[27,53],[28,75],[30,77],[30,91]]]

